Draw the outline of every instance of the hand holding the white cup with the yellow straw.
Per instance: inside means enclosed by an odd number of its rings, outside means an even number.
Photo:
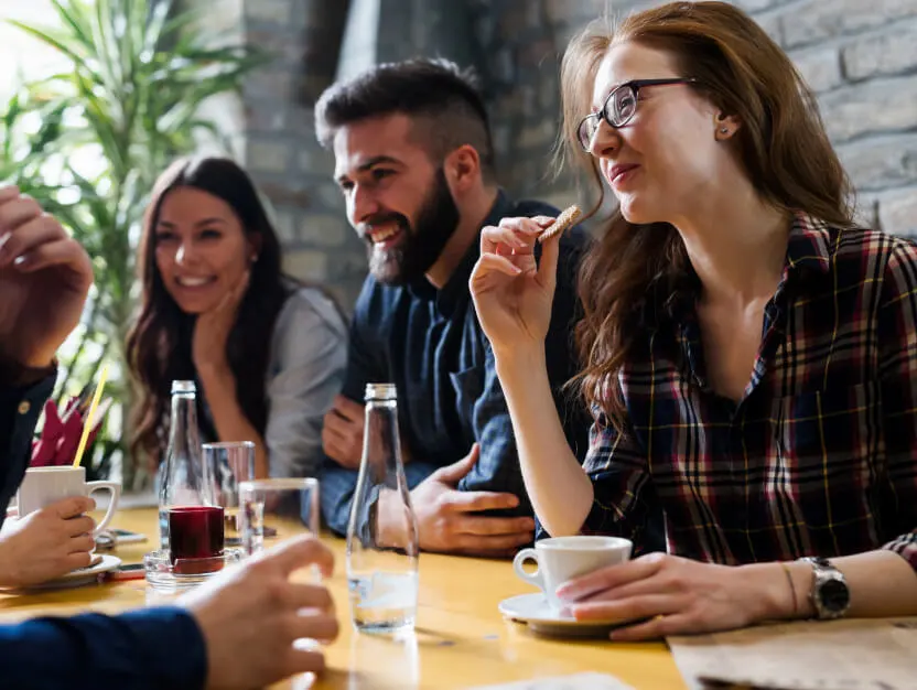
[[[0,585],[41,584],[86,568],[96,522],[84,514],[95,507],[91,498],[76,496],[8,519],[0,532]]]

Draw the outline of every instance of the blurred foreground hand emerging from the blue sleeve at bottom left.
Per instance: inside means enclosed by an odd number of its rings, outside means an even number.
[[[322,653],[293,647],[303,637],[337,637],[327,589],[290,582],[310,563],[330,575],[334,556],[314,537],[291,539],[182,597],[207,645],[207,688],[261,688],[324,669]]]

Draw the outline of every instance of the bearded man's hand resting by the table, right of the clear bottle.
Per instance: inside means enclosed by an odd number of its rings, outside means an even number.
[[[479,449],[458,462],[441,467],[411,492],[417,515],[420,548],[424,551],[507,558],[529,543],[535,520],[528,517],[490,517],[475,515],[482,510],[515,508],[519,499],[496,492],[461,492],[455,488],[477,462]],[[380,529],[385,540],[387,497],[380,498]]]

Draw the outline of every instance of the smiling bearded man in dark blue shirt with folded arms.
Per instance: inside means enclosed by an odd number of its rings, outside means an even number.
[[[499,187],[481,94],[445,61],[378,65],[334,84],[316,105],[315,126],[334,152],[347,218],[369,256],[344,388],[324,420],[324,520],[335,532],[346,530],[364,390],[368,382],[393,382],[421,549],[511,556],[531,542],[535,521],[468,278],[484,226],[507,218],[547,225],[558,211],[514,202]],[[587,242],[581,228],[561,239],[546,345],[554,402],[581,459],[590,418],[563,387],[578,370],[575,277]],[[391,498],[382,492],[374,507],[377,530],[397,518]]]

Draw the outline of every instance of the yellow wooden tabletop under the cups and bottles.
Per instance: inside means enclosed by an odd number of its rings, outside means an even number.
[[[157,548],[154,509],[122,510],[114,522],[148,535],[142,545],[118,548],[125,562],[139,562]],[[408,690],[470,688],[597,671],[616,676],[637,690],[684,688],[662,643],[619,644],[539,637],[505,621],[497,604],[532,591],[505,561],[423,553],[417,632],[404,639],[356,634],[349,625],[344,541],[327,539],[335,572],[326,581],[342,621],[341,637],[326,649],[327,672],[314,682],[302,677],[278,688]],[[36,594],[0,594],[0,621],[84,611],[118,613],[166,603],[143,580],[89,585]]]

